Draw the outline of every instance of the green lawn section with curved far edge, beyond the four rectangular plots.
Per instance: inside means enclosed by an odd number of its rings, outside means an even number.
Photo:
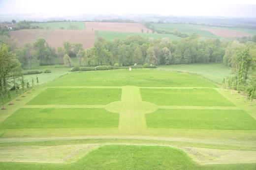
[[[49,86],[143,86],[143,87],[216,87],[197,75],[148,69],[92,71],[72,73],[49,83]]]

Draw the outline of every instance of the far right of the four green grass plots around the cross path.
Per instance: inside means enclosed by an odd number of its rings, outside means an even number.
[[[140,89],[144,101],[174,106],[234,106],[214,89]]]

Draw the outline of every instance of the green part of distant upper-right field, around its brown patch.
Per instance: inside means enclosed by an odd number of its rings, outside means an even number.
[[[221,38],[221,37],[216,36],[209,31],[203,30],[203,28],[234,30],[238,32],[256,34],[255,29],[236,28],[236,27],[218,27],[218,26],[205,26],[205,25],[196,25],[196,24],[153,24],[153,25],[156,27],[156,29],[159,29],[159,30],[173,31],[174,29],[177,29],[178,31],[188,35],[191,35],[192,33],[197,33],[201,37],[207,37],[207,38],[209,37]]]

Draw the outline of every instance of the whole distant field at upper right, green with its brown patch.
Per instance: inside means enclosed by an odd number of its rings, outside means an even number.
[[[201,37],[206,38],[235,38],[243,36],[254,36],[255,29],[235,28],[235,27],[218,27],[205,26],[196,24],[153,24],[156,29],[173,31],[177,29],[182,33],[188,35],[197,33]]]

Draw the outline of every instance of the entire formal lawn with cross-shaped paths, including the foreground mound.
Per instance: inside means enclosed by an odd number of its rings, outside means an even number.
[[[2,170],[256,168],[256,102],[200,75],[68,73],[19,98],[0,110]]]

